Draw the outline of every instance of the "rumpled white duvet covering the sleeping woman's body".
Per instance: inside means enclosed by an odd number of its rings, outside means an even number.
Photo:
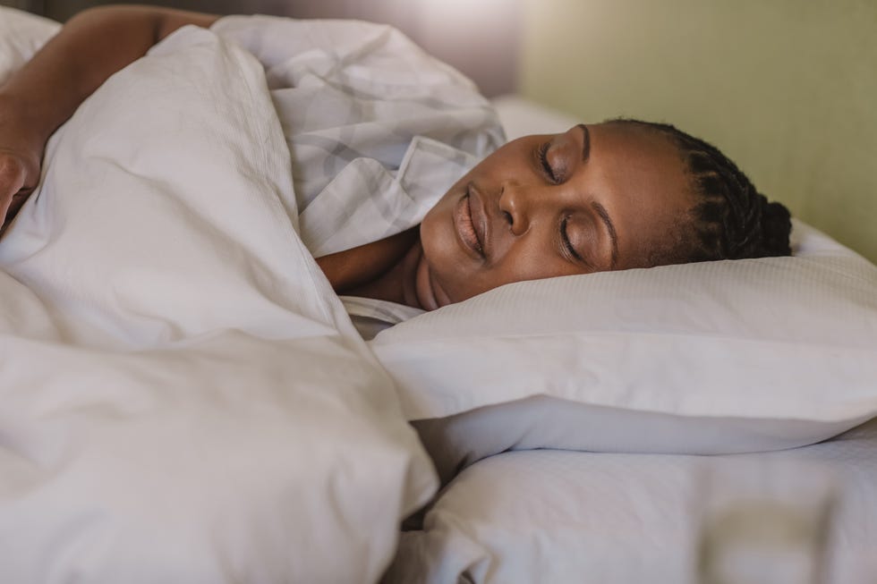
[[[177,31],[44,169],[0,241],[0,580],[377,580],[435,478],[298,237],[260,63]]]

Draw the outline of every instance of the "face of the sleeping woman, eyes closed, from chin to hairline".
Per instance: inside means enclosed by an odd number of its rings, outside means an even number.
[[[644,267],[693,205],[660,133],[600,123],[514,140],[423,219],[417,299],[435,309],[502,284]]]

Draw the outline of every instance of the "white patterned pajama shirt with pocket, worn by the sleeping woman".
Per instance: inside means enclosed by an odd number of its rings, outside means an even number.
[[[316,258],[420,224],[505,141],[473,82],[392,27],[229,16],[212,30],[265,67]]]

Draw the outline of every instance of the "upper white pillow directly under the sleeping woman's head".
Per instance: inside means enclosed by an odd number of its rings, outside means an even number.
[[[445,479],[508,449],[811,444],[877,414],[877,267],[794,235],[793,258],[507,285],[371,347]]]

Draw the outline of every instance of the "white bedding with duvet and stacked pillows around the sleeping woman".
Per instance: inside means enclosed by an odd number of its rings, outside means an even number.
[[[0,70],[54,30],[4,9]],[[277,116],[260,61],[183,30],[50,142],[0,245],[4,580],[874,581],[870,262],[796,224],[796,258],[515,284],[366,342]]]

